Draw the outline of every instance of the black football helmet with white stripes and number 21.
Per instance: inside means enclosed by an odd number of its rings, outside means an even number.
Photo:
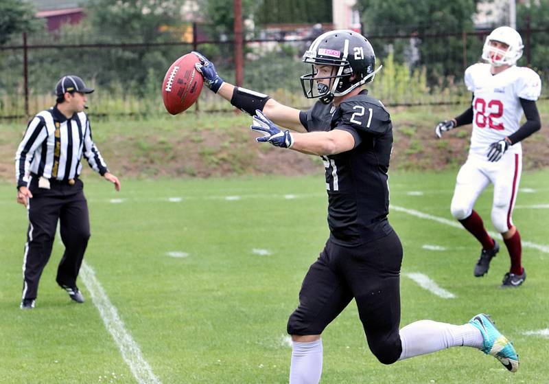
[[[375,54],[370,42],[351,30],[330,31],[318,36],[303,54],[303,63],[312,66],[312,72],[300,78],[305,97],[318,98],[324,104],[371,82],[381,69],[374,69]],[[333,66],[331,76],[316,78],[315,65]],[[352,80],[351,75],[355,75]],[[320,79],[331,79],[329,86],[317,82]]]

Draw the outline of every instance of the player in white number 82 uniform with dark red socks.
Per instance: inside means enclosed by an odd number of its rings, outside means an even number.
[[[465,70],[465,84],[473,92],[471,106],[435,128],[440,139],[445,131],[473,124],[469,156],[456,179],[451,211],[482,244],[474,275],[483,276],[500,245],[489,236],[473,207],[480,192],[493,183],[491,220],[502,234],[511,258],[511,268],[504,275],[502,287],[517,287],[526,279],[520,235],[511,214],[522,172],[520,142],[541,128],[535,104],[541,80],[532,69],[515,65],[523,47],[522,38],[513,28],[493,30],[482,49],[482,59],[487,63],[477,63]],[[520,125],[523,111],[526,122]]]

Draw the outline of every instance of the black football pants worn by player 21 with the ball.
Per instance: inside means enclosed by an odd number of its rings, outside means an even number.
[[[288,333],[320,335],[354,298],[370,350],[382,363],[394,363],[402,352],[401,262],[402,245],[395,231],[360,247],[328,240],[305,275]]]

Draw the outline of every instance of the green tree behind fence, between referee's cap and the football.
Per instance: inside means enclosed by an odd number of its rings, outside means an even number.
[[[86,19],[79,25],[66,25],[61,41],[128,44],[102,50],[81,48],[82,60],[76,65],[105,87],[145,95],[153,91],[146,84],[154,81],[161,84],[165,70],[181,56],[181,47],[131,44],[174,41],[170,31],[178,31],[183,24],[184,3],[184,0],[90,0]]]

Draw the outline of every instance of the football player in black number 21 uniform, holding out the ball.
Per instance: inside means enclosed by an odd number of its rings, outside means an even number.
[[[305,275],[299,306],[288,320],[293,341],[290,383],[318,383],[320,335],[353,299],[370,350],[382,363],[470,346],[492,354],[512,372],[518,369],[513,345],[483,314],[459,326],[421,320],[399,330],[403,252],[387,219],[393,126],[382,102],[363,89],[379,70],[364,36],[349,30],[327,32],[305,52],[303,62],[312,71],[301,76],[303,93],[318,98],[309,111],[224,82],[213,63],[196,54],[205,84],[254,115],[251,128],[263,135],[258,142],[319,155],[324,162],[330,236]]]

